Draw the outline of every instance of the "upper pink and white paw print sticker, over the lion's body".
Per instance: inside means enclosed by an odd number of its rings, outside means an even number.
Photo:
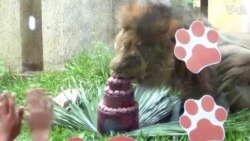
[[[189,30],[179,29],[175,38],[174,54],[186,63],[191,72],[199,73],[208,66],[220,63],[219,35],[202,22],[194,21]]]

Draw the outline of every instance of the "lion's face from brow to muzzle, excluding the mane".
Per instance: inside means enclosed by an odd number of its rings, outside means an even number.
[[[111,69],[116,74],[128,78],[143,77],[146,70],[146,62],[134,31],[121,30],[115,42],[115,57],[111,62]]]

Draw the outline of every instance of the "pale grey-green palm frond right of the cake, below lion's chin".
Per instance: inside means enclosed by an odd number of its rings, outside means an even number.
[[[157,123],[180,102],[177,97],[170,96],[169,89],[165,87],[149,89],[137,86],[135,100],[139,103],[140,127]]]

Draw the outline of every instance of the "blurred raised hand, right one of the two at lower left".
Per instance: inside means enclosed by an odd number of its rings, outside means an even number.
[[[27,92],[29,127],[35,141],[47,141],[53,121],[53,109],[42,89]]]

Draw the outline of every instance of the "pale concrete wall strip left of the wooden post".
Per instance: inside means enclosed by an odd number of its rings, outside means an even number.
[[[17,0],[0,0],[0,59],[13,71],[21,71],[20,15]]]

